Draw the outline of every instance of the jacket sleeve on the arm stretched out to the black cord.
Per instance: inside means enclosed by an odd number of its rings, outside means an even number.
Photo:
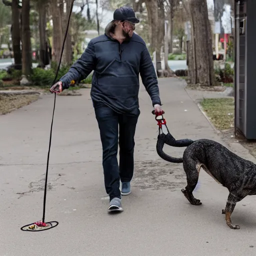
[[[95,50],[94,45],[90,41],[80,56],[80,58],[71,65],[68,72],[64,74],[59,81],[63,83],[63,89],[69,87],[71,80],[79,82],[85,79],[92,70],[95,69]]]

